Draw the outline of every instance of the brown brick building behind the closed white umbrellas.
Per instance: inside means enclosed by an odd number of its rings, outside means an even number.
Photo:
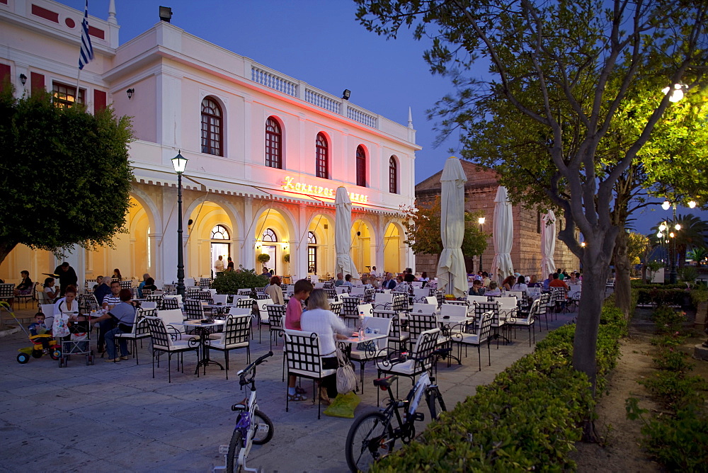
[[[487,248],[482,253],[481,269],[491,270],[491,263],[494,258],[494,243],[491,238],[494,221],[494,198],[499,186],[497,175],[494,171],[477,166],[469,161],[460,160],[462,169],[467,175],[467,183],[464,186],[464,208],[467,212],[484,212],[483,231],[489,235],[487,238]],[[442,171],[430,176],[416,186],[416,205],[426,207],[440,195],[440,176]],[[514,270],[523,275],[537,275],[543,280],[547,275],[541,274],[541,227],[544,224],[543,214],[539,210],[528,210],[521,205],[513,205],[514,239],[511,247],[511,261],[514,263]],[[556,234],[563,226],[563,219],[556,215]],[[479,270],[479,256],[464,255],[467,270],[475,272]],[[565,270],[578,270],[580,261],[573,255],[566,244],[556,239],[556,250],[554,252],[556,268]],[[428,275],[435,274],[437,270],[437,255],[416,255],[416,269],[427,271]]]

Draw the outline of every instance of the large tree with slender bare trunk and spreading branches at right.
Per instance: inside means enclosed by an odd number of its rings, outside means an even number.
[[[432,38],[425,59],[458,88],[455,98],[434,110],[443,132],[459,128],[463,137],[506,137],[503,147],[509,151],[495,166],[505,186],[528,177],[528,166],[520,161],[540,168],[535,186],[549,206],[563,212],[566,225],[559,239],[583,263],[573,367],[588,375],[594,391],[603,287],[622,231],[610,213],[615,186],[623,176],[633,178],[627,173],[669,108],[670,95],[647,106],[641,132],[612,154],[605,153],[611,149],[610,132],[623,107],[642,91],[682,81],[690,82],[690,89],[701,85],[708,3],[356,1],[360,22],[376,33],[395,38],[401,27],[413,27],[414,37]],[[489,80],[477,78],[480,58],[489,62]],[[497,120],[496,127],[491,120]],[[545,159],[529,159],[527,147],[516,147],[523,136]],[[500,139],[489,147],[502,146]],[[593,436],[590,422],[585,432]]]

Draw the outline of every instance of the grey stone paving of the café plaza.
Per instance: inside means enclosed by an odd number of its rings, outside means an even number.
[[[18,313],[30,316],[30,311]],[[561,326],[573,317],[559,314],[549,326]],[[547,334],[545,324],[543,329],[536,331],[536,341]],[[267,327],[263,343],[258,343],[257,332],[251,359],[269,348]],[[448,409],[530,353],[527,331],[517,335],[508,346],[492,345],[491,367],[484,353],[481,372],[474,348],[461,366],[439,364],[438,383]],[[95,347],[95,340],[91,343]],[[0,471],[207,472],[223,465],[218,448],[231,437],[232,404],[244,398],[236,371],[246,365],[245,351],[231,352],[228,381],[215,365],[207,368],[206,376],[196,377],[195,355],[189,353],[184,374],[173,363],[168,384],[166,363],[156,367],[152,378],[149,339],[139,348],[139,365],[133,359],[115,364],[97,359],[96,365],[86,366],[83,355],[64,368],[48,356],[20,365],[16,355],[23,346],[28,340],[22,332],[0,338]],[[275,356],[258,368],[256,379],[261,411],[273,420],[275,435],[267,445],[254,446],[249,466],[266,472],[346,471],[344,441],[352,420],[323,415],[318,421],[312,401],[291,403],[290,412],[285,412],[282,343],[273,352]],[[212,358],[223,360],[220,352],[213,352]],[[371,384],[375,376],[375,366],[368,365],[356,414],[376,406]],[[312,396],[312,382],[303,380],[302,386]],[[409,387],[402,379],[401,396]]]

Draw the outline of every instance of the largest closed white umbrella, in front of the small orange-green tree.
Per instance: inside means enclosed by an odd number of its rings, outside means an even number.
[[[459,159],[445,161],[440,177],[440,237],[442,253],[438,262],[438,289],[462,297],[467,294],[467,271],[464,268],[464,183],[467,175]]]

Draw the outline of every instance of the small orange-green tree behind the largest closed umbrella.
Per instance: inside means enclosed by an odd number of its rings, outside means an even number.
[[[404,243],[411,247],[413,253],[432,254],[440,258],[442,253],[442,237],[440,236],[440,196],[436,196],[429,206],[404,207],[401,209],[406,219],[406,239]],[[477,227],[477,218],[484,212],[464,212],[464,236],[462,237],[462,254],[469,258],[484,253],[487,234]]]

